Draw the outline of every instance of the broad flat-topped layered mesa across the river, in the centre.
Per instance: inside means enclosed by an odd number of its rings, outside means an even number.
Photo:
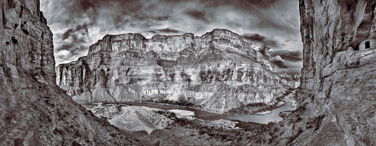
[[[299,77],[272,72],[241,36],[223,29],[200,37],[106,35],[56,73],[57,85],[76,101],[167,99],[215,113],[270,103],[299,86]]]

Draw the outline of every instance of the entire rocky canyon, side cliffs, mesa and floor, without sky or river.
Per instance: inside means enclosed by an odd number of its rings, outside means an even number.
[[[299,0],[301,84],[220,29],[201,37],[107,35],[88,56],[55,69],[52,32],[39,5],[0,2],[0,145],[376,145],[376,1]],[[173,100],[229,113],[297,86],[297,110],[268,124],[120,104],[86,110],[73,101]],[[143,120],[118,128],[108,122],[122,124],[116,114]]]

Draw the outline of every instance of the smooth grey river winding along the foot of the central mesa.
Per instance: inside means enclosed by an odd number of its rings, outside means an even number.
[[[196,115],[196,118],[199,119],[205,119],[205,120],[218,120],[218,119],[227,119],[227,120],[239,120],[243,122],[255,122],[255,123],[261,123],[261,124],[268,124],[268,122],[273,121],[282,121],[282,117],[278,115],[279,112],[284,112],[288,110],[296,110],[296,104],[295,100],[292,98],[296,93],[296,90],[292,91],[290,94],[288,94],[283,100],[286,101],[283,106],[280,106],[276,109],[273,109],[271,113],[262,114],[262,115],[222,115],[218,113],[211,113],[206,112],[203,110],[198,109],[191,109],[191,108],[181,108],[181,107],[174,107],[174,106],[167,106],[163,104],[151,104],[151,103],[137,103],[137,102],[125,102],[126,104],[133,104],[138,106],[146,106],[146,107],[153,107],[157,109],[180,109],[180,110],[189,110],[193,111]],[[92,102],[77,102],[80,104],[83,103],[92,103]],[[118,103],[118,104],[124,104],[121,102],[105,102],[105,103]],[[291,106],[294,105],[294,106]]]

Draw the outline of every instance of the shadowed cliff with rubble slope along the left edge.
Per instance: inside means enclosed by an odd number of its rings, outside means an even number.
[[[52,33],[39,1],[0,7],[0,145],[138,145],[55,85]]]

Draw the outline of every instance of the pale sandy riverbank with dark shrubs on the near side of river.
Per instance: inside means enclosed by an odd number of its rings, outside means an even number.
[[[246,131],[259,130],[264,124],[226,119],[196,118],[195,112],[182,109],[157,109],[126,103],[82,103],[94,115],[106,118],[123,130],[134,131],[139,139],[166,145],[230,145]],[[163,105],[162,105],[163,106]],[[170,108],[170,107],[168,107]]]

